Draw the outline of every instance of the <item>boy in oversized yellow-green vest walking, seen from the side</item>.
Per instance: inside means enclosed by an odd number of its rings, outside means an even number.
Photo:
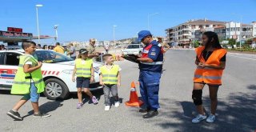
[[[25,50],[25,55],[20,56],[11,94],[25,95],[7,114],[11,118],[22,121],[23,118],[18,114],[18,110],[30,99],[34,110],[34,117],[50,117],[50,114],[44,114],[39,111],[38,107],[38,99],[40,93],[45,89],[45,84],[41,72],[42,62],[38,62],[31,55],[36,49],[36,44],[32,41],[22,42],[22,49]]]

